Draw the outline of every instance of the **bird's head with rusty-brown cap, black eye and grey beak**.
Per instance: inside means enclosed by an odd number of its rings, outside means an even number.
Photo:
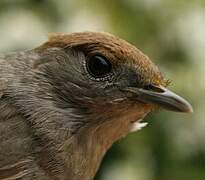
[[[41,63],[52,61],[43,64],[48,64],[44,70],[56,105],[75,110],[81,118],[78,128],[120,117],[135,122],[160,107],[192,111],[186,100],[166,89],[167,81],[146,55],[110,34],[54,34],[36,50]]]

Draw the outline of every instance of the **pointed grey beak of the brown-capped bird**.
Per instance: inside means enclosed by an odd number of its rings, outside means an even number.
[[[159,107],[176,112],[193,112],[192,106],[184,98],[162,86],[150,86],[151,88],[128,88],[128,91],[137,95],[137,100],[151,103]]]

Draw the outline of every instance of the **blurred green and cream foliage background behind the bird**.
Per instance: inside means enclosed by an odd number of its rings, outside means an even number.
[[[205,180],[205,1],[1,0],[0,52],[36,47],[51,32],[107,31],[143,50],[193,114],[166,111],[116,142],[96,180]]]

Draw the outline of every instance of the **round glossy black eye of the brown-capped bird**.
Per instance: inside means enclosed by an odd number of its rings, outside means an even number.
[[[89,58],[87,69],[93,77],[100,78],[112,71],[112,64],[104,56],[94,55]]]

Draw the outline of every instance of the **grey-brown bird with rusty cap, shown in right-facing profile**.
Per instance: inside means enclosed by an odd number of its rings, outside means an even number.
[[[0,179],[92,180],[156,109],[192,112],[141,50],[105,32],[54,33],[0,56]]]

